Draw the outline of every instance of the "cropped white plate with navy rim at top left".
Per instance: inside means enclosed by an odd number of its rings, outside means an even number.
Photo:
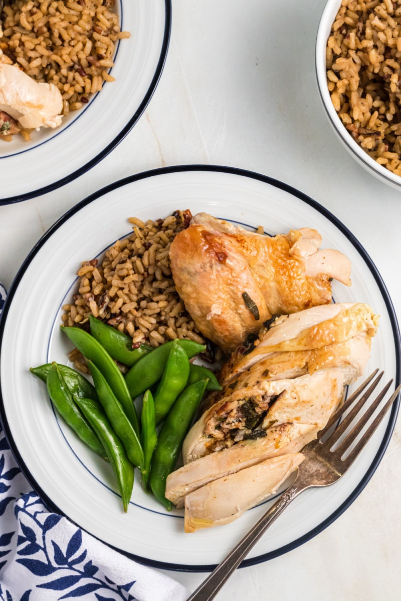
[[[117,146],[141,117],[159,82],[171,31],[171,0],[115,0],[121,31],[115,47],[115,81],[104,82],[79,111],[56,129],[41,128],[31,141],[0,141],[0,170],[7,173],[0,205],[37,197],[71,182]],[[23,177],[22,177],[23,175]]]

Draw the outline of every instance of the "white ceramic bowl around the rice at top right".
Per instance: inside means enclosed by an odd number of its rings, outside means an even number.
[[[387,183],[396,189],[401,189],[401,177],[379,165],[372,157],[367,154],[363,148],[352,138],[350,133],[344,127],[342,121],[337,115],[335,108],[331,102],[331,97],[328,91],[326,78],[326,44],[331,31],[332,23],[341,6],[341,0],[328,0],[320,17],[319,28],[317,29],[316,38],[316,77],[319,87],[320,97],[326,111],[326,115],[337,133],[338,138],[343,142],[344,147],[349,153],[362,165],[367,171],[381,182]]]

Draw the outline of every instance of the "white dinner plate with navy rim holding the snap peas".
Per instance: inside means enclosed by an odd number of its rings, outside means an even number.
[[[76,289],[81,261],[100,257],[116,239],[129,234],[129,217],[158,219],[177,209],[190,209],[192,214],[204,211],[250,228],[262,225],[268,234],[316,228],[323,237],[322,248],[337,248],[352,263],[352,286],[333,282],[334,300],[366,302],[381,316],[366,374],[384,368],[386,377],[393,377],[394,386],[398,385],[401,345],[387,288],[355,236],[317,201],[264,175],[206,165],[133,175],[81,201],[44,234],[11,285],[0,322],[0,415],[10,447],[52,511],[144,563],[209,571],[271,500],[227,525],[185,534],[182,510],[166,511],[142,491],[136,477],[124,514],[110,466],[58,418],[46,387],[29,373],[34,365],[68,361],[71,347],[60,332],[61,307]],[[398,407],[399,400],[347,474],[334,486],[311,489],[295,499],[242,566],[291,551],[349,507],[379,466]]]

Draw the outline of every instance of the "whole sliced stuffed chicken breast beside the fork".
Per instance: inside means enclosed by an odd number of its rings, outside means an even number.
[[[326,305],[279,317],[233,353],[223,390],[210,393],[186,436],[184,465],[167,478],[167,498],[185,506],[186,531],[236,519],[280,486],[272,471],[263,488],[257,466],[284,465],[280,457],[316,438],[363,373],[377,326],[368,305]]]

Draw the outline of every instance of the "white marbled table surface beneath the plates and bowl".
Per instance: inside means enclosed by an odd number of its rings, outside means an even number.
[[[0,279],[9,287],[42,234],[109,182],[180,163],[236,166],[288,183],[360,240],[401,316],[401,194],[350,159],[317,94],[323,0],[173,0],[158,88],[133,130],[75,182],[0,207]],[[4,181],[6,174],[1,174]],[[298,549],[237,570],[216,599],[381,601],[401,595],[401,427],[354,504]],[[194,590],[202,573],[167,572]]]

